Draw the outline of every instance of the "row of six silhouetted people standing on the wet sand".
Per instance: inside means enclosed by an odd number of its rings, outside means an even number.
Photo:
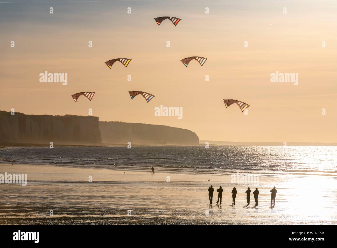
[[[208,188],[208,198],[210,200],[210,204],[212,204],[212,202],[213,202],[213,192],[214,192],[214,188],[211,185],[211,187]],[[219,187],[219,189],[217,189],[217,192],[218,192],[218,201],[216,202],[216,204],[219,204],[219,199],[220,199],[220,204],[221,204],[222,192],[223,192],[223,189],[222,189],[221,186]],[[276,193],[277,193],[276,187],[274,187],[270,192],[271,192],[271,203],[270,203],[270,205],[273,205],[273,200],[274,200],[274,206],[275,206],[275,197],[276,197]],[[235,198],[236,198],[237,193],[238,193],[238,191],[234,187],[233,190],[232,190],[233,206],[235,205]],[[248,187],[248,189],[246,190],[245,193],[247,194],[247,206],[249,206],[249,203],[250,203],[250,189],[249,189],[249,187]],[[258,194],[259,193],[260,192],[258,191],[258,189],[255,188],[255,190],[253,191],[253,195],[254,195],[254,199],[255,199],[255,205],[254,206],[258,205]]]

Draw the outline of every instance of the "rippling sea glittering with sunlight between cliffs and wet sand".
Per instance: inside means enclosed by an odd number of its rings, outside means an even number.
[[[1,164],[337,176],[336,146],[1,147]]]

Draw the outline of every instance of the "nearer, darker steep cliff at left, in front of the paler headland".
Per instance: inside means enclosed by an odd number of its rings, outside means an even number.
[[[25,115],[0,111],[0,142],[62,145],[100,144],[98,117]]]

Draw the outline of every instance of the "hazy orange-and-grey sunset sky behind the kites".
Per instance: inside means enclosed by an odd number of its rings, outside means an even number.
[[[336,1],[0,2],[0,110],[91,108],[102,121],[185,128],[200,140],[337,142]],[[159,16],[182,20],[158,26]],[[208,60],[185,67],[190,56]],[[110,70],[114,58],[132,60]],[[40,82],[45,71],[67,73],[67,85]],[[298,85],[272,83],[276,71],[298,73]],[[131,90],[155,97],[131,101]],[[96,94],[75,103],[82,91]],[[223,99],[249,104],[247,114]],[[160,105],[182,107],[183,117],[155,116]]]

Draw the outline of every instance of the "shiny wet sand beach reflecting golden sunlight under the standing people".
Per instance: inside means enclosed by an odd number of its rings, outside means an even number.
[[[232,184],[230,174],[174,170],[152,175],[150,170],[2,164],[4,172],[27,174],[27,186],[0,184],[0,224],[337,224],[334,176],[260,175],[259,184],[248,185]],[[216,205],[219,185],[222,204]],[[271,208],[273,186],[278,193]],[[252,194],[247,207],[247,187],[251,192],[258,187],[257,208]]]

